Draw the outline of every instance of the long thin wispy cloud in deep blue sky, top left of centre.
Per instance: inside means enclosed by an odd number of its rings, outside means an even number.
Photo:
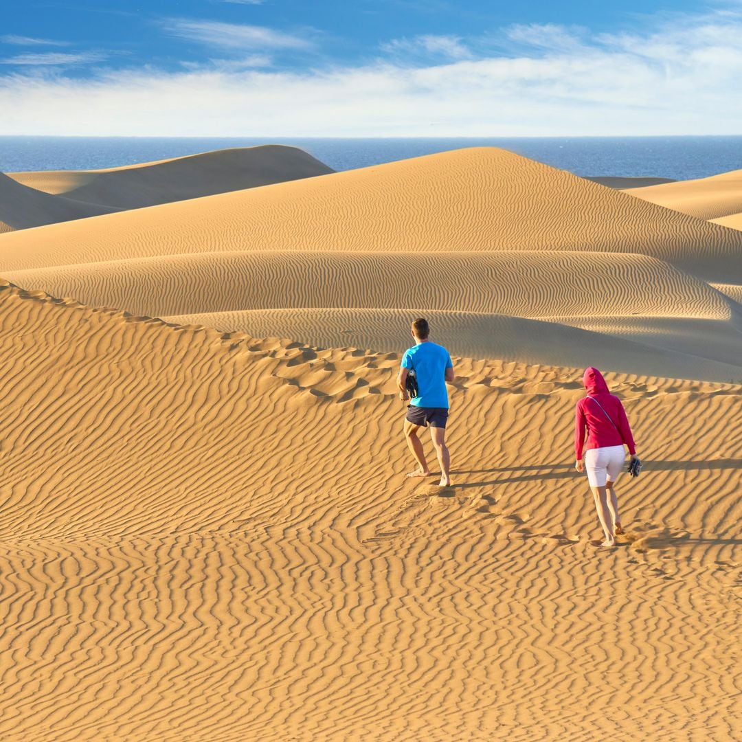
[[[173,18],[163,22],[172,36],[229,49],[309,49],[312,43],[299,36],[263,26]]]

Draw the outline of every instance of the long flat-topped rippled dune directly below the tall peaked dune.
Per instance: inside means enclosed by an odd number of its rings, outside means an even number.
[[[4,275],[28,289],[155,317],[405,304],[529,318],[728,320],[735,312],[708,284],[646,255],[221,252],[6,269]]]

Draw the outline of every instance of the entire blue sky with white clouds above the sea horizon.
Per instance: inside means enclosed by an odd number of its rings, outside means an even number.
[[[742,0],[6,0],[0,134],[742,134]]]

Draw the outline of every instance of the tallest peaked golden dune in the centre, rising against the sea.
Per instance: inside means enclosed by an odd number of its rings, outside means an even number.
[[[111,214],[0,240],[0,271],[235,250],[640,252],[742,283],[742,234],[495,148]]]

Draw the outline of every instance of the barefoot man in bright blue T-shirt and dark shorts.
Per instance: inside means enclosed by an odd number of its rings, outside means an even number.
[[[453,364],[448,351],[442,345],[436,345],[428,339],[430,328],[427,320],[417,319],[413,322],[412,335],[415,345],[405,351],[397,376],[399,398],[406,402],[410,399],[407,393],[407,376],[413,373],[417,382],[417,395],[407,405],[407,416],[404,419],[404,437],[418,468],[407,476],[430,476],[431,472],[425,461],[422,441],[418,433],[423,427],[430,427],[430,439],[436,449],[436,456],[441,465],[441,487],[451,483],[448,448],[446,447],[446,421],[448,419],[448,392],[446,382],[453,383]]]

